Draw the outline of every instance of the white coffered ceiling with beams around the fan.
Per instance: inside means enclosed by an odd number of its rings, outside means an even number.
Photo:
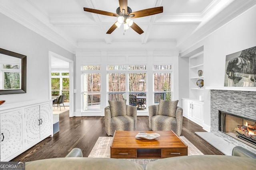
[[[0,0],[0,12],[68,51],[109,48],[182,50],[256,4],[255,0],[128,0],[133,12],[163,6],[163,13],[132,19],[144,33],[117,28],[118,0]]]

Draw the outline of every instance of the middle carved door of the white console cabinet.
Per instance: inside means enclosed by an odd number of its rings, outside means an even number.
[[[40,139],[40,107],[25,108],[26,146],[32,145]]]

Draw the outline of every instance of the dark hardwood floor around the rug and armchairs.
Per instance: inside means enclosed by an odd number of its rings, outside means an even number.
[[[136,131],[148,131],[148,116],[138,116]],[[196,123],[183,118],[182,133],[204,154],[222,154],[198,137],[195,132],[204,131]],[[87,157],[98,137],[106,134],[103,116],[69,117],[68,111],[60,114],[60,131],[53,137],[48,137],[26,150],[11,161],[32,161],[46,158],[65,157],[70,150],[77,147],[82,149],[83,156]]]

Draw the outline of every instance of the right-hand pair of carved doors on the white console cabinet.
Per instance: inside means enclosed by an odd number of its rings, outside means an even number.
[[[25,108],[26,146],[48,135],[51,131],[51,104]]]

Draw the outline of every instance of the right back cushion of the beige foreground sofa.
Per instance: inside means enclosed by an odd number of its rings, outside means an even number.
[[[226,155],[176,156],[149,162],[146,170],[251,170],[255,169],[254,158]]]

